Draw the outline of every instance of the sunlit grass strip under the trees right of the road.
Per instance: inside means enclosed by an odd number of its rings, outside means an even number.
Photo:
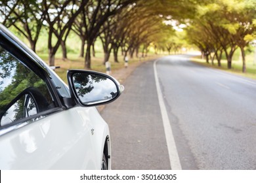
[[[221,60],[221,67],[218,66],[217,60],[214,61],[214,65],[210,63],[206,63],[205,59],[201,59],[200,56],[191,58],[191,61],[194,63],[198,63],[200,65],[204,65],[205,67],[211,67],[215,69],[220,69],[223,71],[227,71],[228,73],[234,73],[236,75],[245,76],[247,78],[252,78],[256,80],[256,63],[253,62],[253,55],[249,55],[246,58],[246,73],[242,73],[242,61],[233,60],[232,61],[232,69],[228,69],[227,61]]]

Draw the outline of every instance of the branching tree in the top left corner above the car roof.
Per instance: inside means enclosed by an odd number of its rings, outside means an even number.
[[[3,24],[7,27],[14,26],[28,41],[35,52],[39,33],[45,20],[46,11],[42,9],[43,1],[16,0],[2,1],[0,14]]]

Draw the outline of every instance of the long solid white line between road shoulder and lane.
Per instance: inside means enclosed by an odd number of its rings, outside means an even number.
[[[160,88],[158,72],[156,71],[156,63],[157,62],[158,62],[158,59],[156,61],[154,61],[154,75],[155,75],[155,80],[156,80],[156,90],[158,92],[158,101],[159,101],[160,110],[161,110],[161,117],[163,120],[163,128],[165,131],[165,139],[167,142],[167,148],[168,148],[168,153],[169,153],[169,160],[171,163],[171,169],[181,170],[181,161],[179,159],[179,154],[178,154],[175,140],[173,137],[173,130],[171,129],[171,124],[169,122],[167,110],[165,107],[165,103],[163,101],[163,94],[162,94],[161,88]]]

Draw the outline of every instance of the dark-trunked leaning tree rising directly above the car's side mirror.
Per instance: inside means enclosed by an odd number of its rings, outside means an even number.
[[[134,0],[99,0],[89,1],[87,6],[82,9],[82,14],[75,20],[75,32],[78,33],[83,42],[87,42],[85,54],[85,68],[91,69],[91,46],[100,35],[100,27],[104,22],[114,16],[117,12],[127,7]]]

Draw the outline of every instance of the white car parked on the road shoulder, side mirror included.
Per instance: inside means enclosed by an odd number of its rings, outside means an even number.
[[[110,132],[95,105],[123,86],[68,71],[68,84],[0,25],[0,169],[111,169]]]

